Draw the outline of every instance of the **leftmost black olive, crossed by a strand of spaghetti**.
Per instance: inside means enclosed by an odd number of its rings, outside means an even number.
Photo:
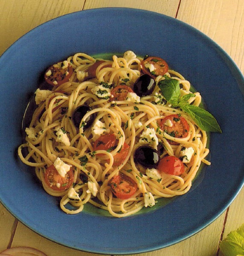
[[[88,106],[79,106],[76,108],[76,110],[73,113],[73,122],[76,128],[80,128],[81,124],[81,119],[84,117],[84,115],[88,112],[91,111],[92,109]],[[84,125],[84,129],[90,127],[90,125],[93,123],[96,115],[95,113],[91,114],[90,116],[87,117],[85,120],[86,125]]]

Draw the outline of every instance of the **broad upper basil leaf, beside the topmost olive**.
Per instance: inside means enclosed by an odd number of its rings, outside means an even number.
[[[177,79],[165,79],[158,82],[166,101],[176,107],[180,98],[180,83]]]

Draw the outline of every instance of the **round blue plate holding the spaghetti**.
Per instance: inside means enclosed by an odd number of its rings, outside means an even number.
[[[18,160],[29,95],[50,64],[76,52],[155,55],[200,91],[223,134],[211,134],[212,165],[186,195],[128,218],[99,212],[67,215]],[[137,9],[91,9],[33,29],[0,58],[0,200],[41,236],[93,253],[157,250],[194,235],[218,218],[244,183],[244,78],[229,56],[198,30],[171,17]]]

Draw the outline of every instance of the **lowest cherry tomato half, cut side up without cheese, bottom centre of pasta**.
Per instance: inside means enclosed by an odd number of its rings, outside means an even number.
[[[113,177],[110,187],[113,195],[119,199],[131,198],[137,191],[137,183],[123,173],[119,173],[119,175]]]

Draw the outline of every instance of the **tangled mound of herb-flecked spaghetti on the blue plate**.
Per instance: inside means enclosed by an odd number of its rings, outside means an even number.
[[[18,154],[23,163],[35,167],[46,192],[61,197],[64,212],[81,212],[89,202],[115,217],[128,216],[142,207],[154,206],[157,198],[185,194],[201,162],[210,164],[206,160],[209,154],[206,131],[181,108],[173,108],[158,86],[160,81],[175,79],[180,84],[181,96],[192,94],[189,81],[179,73],[168,70],[164,75],[155,76],[153,66],[147,65],[156,81],[152,93],[139,97],[130,90],[123,100],[111,94],[119,85],[133,89],[143,71],[142,61],[131,51],[125,52],[123,57],[113,55],[111,61],[98,61],[77,53],[59,64],[59,68],[69,67],[62,73],[63,77],[69,75],[68,81],[58,84],[54,79],[48,90],[36,91],[38,106],[26,128],[26,142],[20,145]],[[95,64],[95,71],[91,71]],[[92,72],[95,72],[94,77],[90,75]],[[51,74],[53,70],[48,69],[47,79]],[[200,93],[194,93],[187,101],[199,106]],[[89,111],[78,121],[77,128],[74,113],[81,106]],[[188,128],[184,136],[176,136],[163,128],[162,120],[167,116],[174,116],[174,119],[166,120],[166,128],[172,127],[172,120],[178,119],[175,116],[186,120]],[[87,128],[89,119],[91,123]],[[109,150],[99,149],[99,138],[105,135],[115,138]],[[104,142],[100,140],[100,143]],[[184,163],[183,173],[170,174],[157,169],[158,163],[147,168],[147,163],[138,162],[135,152],[143,145],[159,152],[161,160],[168,156],[180,159]],[[54,163],[59,166],[58,161],[63,167],[69,166],[69,170],[61,168],[48,176],[47,169],[55,170]],[[120,184],[114,178],[119,175],[120,183],[134,186],[134,194],[125,199],[116,196]],[[126,192],[131,192],[131,188]],[[73,209],[67,207],[68,204]]]

